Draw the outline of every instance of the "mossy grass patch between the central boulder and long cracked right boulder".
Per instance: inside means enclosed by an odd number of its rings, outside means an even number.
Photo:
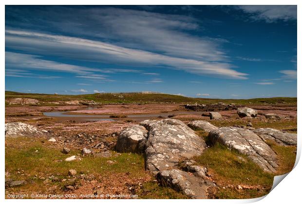
[[[211,176],[218,182],[220,187],[214,195],[218,199],[261,197],[269,192],[273,184],[273,174],[264,172],[245,155],[229,150],[219,143],[208,148],[195,160],[199,165],[207,167]],[[237,190],[238,185],[261,186],[264,189]]]

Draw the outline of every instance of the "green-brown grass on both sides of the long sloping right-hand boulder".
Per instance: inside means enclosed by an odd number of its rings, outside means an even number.
[[[208,133],[196,131],[209,144]],[[245,199],[257,198],[269,193],[275,175],[291,171],[296,161],[296,147],[280,146],[273,141],[267,144],[277,153],[279,169],[275,174],[264,172],[246,155],[230,150],[219,143],[211,145],[194,160],[207,167],[209,174],[219,186],[212,198]]]

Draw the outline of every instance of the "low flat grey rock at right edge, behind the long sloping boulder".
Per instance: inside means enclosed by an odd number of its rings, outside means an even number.
[[[276,143],[283,146],[287,146],[287,145],[297,146],[297,134],[286,133],[272,128],[259,128],[252,131],[256,133],[258,136],[260,136],[264,141],[273,140]]]

